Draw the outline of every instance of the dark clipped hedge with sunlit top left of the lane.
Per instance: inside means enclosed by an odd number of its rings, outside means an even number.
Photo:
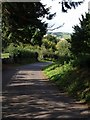
[[[23,46],[14,46],[11,44],[6,51],[9,52],[9,62],[12,63],[30,63],[38,61],[38,53]]]

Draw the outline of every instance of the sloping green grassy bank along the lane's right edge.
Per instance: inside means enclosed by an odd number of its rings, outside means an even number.
[[[71,62],[53,63],[44,68],[44,73],[59,89],[77,100],[90,104],[90,70],[74,67]]]

